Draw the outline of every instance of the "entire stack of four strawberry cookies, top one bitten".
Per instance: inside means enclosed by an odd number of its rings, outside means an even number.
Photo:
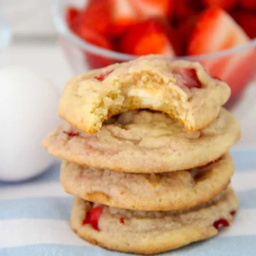
[[[155,254],[229,226],[238,199],[229,148],[240,138],[225,82],[199,63],[140,57],[71,79],[68,123],[44,140],[74,194],[71,228],[111,250]]]

